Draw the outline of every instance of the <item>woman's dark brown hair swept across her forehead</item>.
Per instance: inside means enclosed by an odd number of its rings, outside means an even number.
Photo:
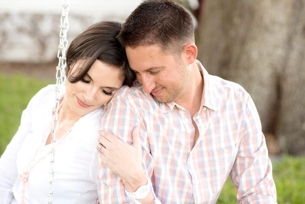
[[[122,24],[116,21],[101,21],[90,26],[74,38],[67,50],[67,76],[71,83],[78,82],[89,71],[95,60],[100,60],[111,67],[120,69],[123,85],[132,86],[135,74],[128,66],[124,47],[117,39]],[[70,73],[78,60],[84,60],[82,67],[77,67],[77,74]],[[72,76],[73,75],[73,76]]]

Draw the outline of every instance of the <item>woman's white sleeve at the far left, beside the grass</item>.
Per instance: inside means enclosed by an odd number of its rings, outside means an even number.
[[[27,108],[22,112],[20,126],[13,139],[7,145],[0,158],[0,203],[9,204],[13,199],[13,186],[18,178],[16,158],[17,153],[31,127],[31,112],[34,106],[34,96]]]

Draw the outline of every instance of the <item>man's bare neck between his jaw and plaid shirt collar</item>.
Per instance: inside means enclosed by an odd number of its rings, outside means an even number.
[[[190,84],[188,85],[185,93],[175,102],[187,109],[193,116],[197,111],[199,111],[200,108],[203,92],[203,77],[199,71],[196,61],[190,66]]]

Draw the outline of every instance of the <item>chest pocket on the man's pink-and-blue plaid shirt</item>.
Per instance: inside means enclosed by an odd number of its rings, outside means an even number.
[[[235,147],[210,150],[210,168],[212,175],[211,186],[214,193],[218,193],[224,185],[226,178],[228,177],[235,158]]]

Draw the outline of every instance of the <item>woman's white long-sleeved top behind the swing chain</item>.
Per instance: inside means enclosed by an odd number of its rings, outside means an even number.
[[[25,200],[30,204],[47,203],[52,144],[45,145],[47,127],[52,122],[55,85],[41,89],[21,116],[20,127],[0,158],[0,204],[20,203],[18,177],[32,159],[41,159],[30,171],[25,186]],[[65,87],[60,87],[63,97]],[[71,132],[58,140],[55,152],[54,203],[95,204],[98,199],[96,151],[102,109],[80,118]],[[60,122],[60,121],[59,121]],[[45,137],[46,136],[46,137]],[[38,153],[34,156],[34,153]],[[46,155],[43,158],[43,155]],[[33,157],[34,156],[34,157]]]

